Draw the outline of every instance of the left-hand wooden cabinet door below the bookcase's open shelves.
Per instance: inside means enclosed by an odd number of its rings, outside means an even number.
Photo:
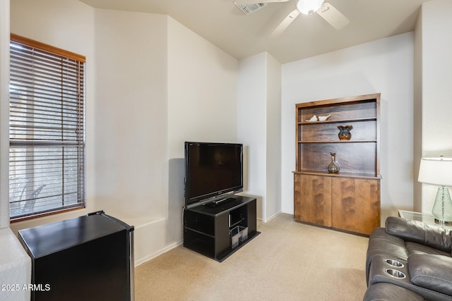
[[[295,174],[296,221],[331,227],[331,177]]]

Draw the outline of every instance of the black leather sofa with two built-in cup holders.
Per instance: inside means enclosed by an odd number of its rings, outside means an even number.
[[[452,231],[400,217],[369,237],[364,300],[452,300]]]

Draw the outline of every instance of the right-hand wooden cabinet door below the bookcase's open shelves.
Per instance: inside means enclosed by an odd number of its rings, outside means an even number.
[[[370,235],[380,226],[380,181],[332,180],[333,228]]]

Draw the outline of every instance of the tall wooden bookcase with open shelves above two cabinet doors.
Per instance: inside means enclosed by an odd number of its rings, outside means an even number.
[[[295,221],[369,235],[380,226],[380,94],[296,104],[295,116]],[[338,137],[346,125],[351,137]]]

